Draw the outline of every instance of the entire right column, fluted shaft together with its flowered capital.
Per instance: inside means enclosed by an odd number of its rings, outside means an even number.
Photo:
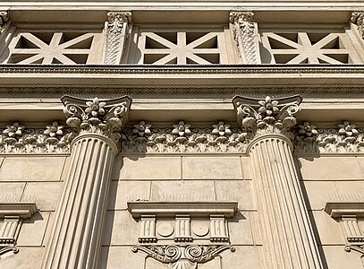
[[[301,97],[233,103],[249,141],[265,268],[322,268],[292,158]]]

